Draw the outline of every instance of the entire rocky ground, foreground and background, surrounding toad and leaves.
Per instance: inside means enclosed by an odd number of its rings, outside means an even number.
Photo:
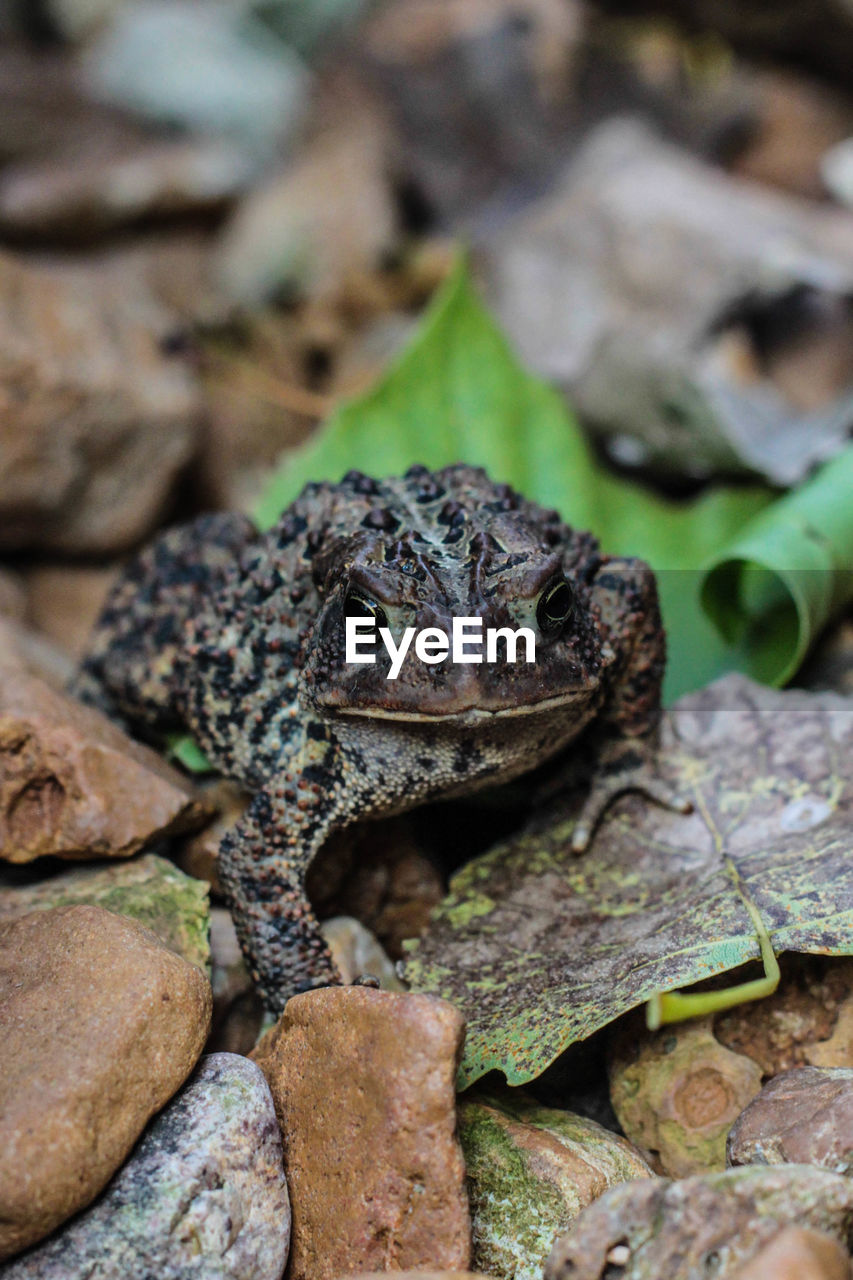
[[[849,448],[853,10],[667,8],[0,0],[3,1280],[853,1275],[847,887],[762,1002],[620,1011],[460,1093],[407,943],[524,788],[336,840],[309,892],[351,986],[273,1020],[216,874],[247,797],[65,691],[126,556],[250,507],[460,238],[615,472],[789,486]],[[849,613],[797,678],[849,861]]]

